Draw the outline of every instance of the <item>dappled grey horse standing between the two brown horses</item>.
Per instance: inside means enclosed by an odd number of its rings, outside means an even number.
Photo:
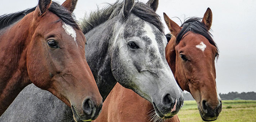
[[[92,12],[80,24],[87,40],[85,57],[103,101],[118,82],[153,103],[160,117],[170,118],[183,105],[183,95],[165,59],[167,40],[160,17],[155,13],[156,3],[157,0],[149,0],[147,4],[117,1]],[[26,99],[17,97],[0,121],[71,121],[70,109],[53,95],[34,86],[28,89],[20,93]],[[31,96],[36,99],[47,96],[47,99],[40,101],[39,106],[29,100]],[[44,105],[52,107],[47,110]],[[25,110],[29,114],[22,114]]]

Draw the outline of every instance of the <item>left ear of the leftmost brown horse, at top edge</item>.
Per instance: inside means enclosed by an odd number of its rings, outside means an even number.
[[[42,15],[50,8],[50,5],[51,5],[51,0],[39,0],[38,6],[35,9],[34,15],[35,16]]]

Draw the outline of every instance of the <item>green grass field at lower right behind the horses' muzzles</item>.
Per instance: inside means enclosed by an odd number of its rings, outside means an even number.
[[[203,122],[195,101],[184,101],[178,116],[181,122]],[[214,122],[256,122],[256,101],[224,100],[222,111]]]

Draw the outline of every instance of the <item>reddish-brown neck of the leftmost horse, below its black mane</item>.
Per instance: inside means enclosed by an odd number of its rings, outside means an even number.
[[[28,30],[31,19],[20,20],[0,35],[0,115],[30,80],[26,68]]]

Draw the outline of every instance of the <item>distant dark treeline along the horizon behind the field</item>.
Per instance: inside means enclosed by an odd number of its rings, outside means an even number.
[[[256,100],[256,92],[254,91],[242,92],[242,93],[232,91],[232,92],[229,92],[228,94],[220,93],[219,95],[222,100],[239,100],[239,99]],[[183,92],[183,96],[184,96],[184,100],[194,100],[194,98],[190,93]]]

